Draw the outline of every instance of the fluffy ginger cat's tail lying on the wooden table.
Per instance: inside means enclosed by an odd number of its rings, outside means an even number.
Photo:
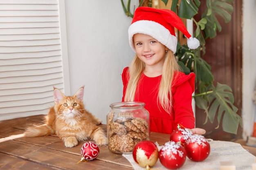
[[[48,136],[53,135],[54,130],[48,124],[43,124],[36,127],[29,127],[23,134],[25,137]]]

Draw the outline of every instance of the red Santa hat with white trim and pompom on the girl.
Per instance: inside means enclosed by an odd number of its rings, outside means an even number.
[[[182,20],[175,12],[168,9],[138,7],[135,10],[132,24],[128,29],[130,47],[135,51],[132,37],[136,33],[143,33],[155,38],[175,53],[177,38],[174,27],[188,38],[187,45],[190,49],[197,49],[200,46],[198,39],[189,34]]]

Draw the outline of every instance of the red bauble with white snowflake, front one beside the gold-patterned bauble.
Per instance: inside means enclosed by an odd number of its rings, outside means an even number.
[[[180,142],[168,141],[159,151],[159,161],[165,168],[171,170],[180,168],[186,161],[185,148]]]

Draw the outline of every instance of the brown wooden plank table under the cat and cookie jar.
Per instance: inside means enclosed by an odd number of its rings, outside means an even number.
[[[36,115],[0,121],[0,139],[24,132],[27,126],[43,124],[44,115]],[[101,125],[106,130],[106,125]],[[151,132],[151,141],[160,145],[169,140],[169,135]],[[112,153],[107,146],[99,146],[97,159],[88,162],[77,162],[81,159],[78,146],[66,148],[63,141],[56,136],[23,137],[0,143],[1,170],[132,170],[129,161],[122,155]],[[256,148],[243,146],[256,156]]]

